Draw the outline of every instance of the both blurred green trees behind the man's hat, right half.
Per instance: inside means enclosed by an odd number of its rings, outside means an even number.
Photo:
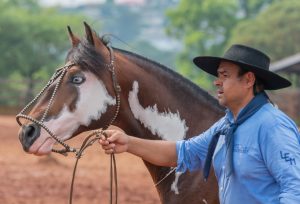
[[[273,61],[300,51],[300,1],[182,0],[167,12],[168,33],[184,43],[179,72],[211,89],[210,76],[193,69],[198,55],[222,56],[230,45],[254,46]]]

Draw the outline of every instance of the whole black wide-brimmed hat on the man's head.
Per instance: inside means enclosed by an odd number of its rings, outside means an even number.
[[[290,81],[269,70],[270,58],[266,54],[244,45],[231,46],[223,57],[199,56],[195,57],[193,62],[205,72],[218,76],[217,69],[223,60],[253,72],[262,81],[266,90],[276,90],[291,85]]]

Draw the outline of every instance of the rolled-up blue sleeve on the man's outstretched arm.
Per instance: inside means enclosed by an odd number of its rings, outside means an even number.
[[[208,145],[214,133],[222,127],[224,118],[202,134],[176,142],[177,172],[195,171],[203,168]]]

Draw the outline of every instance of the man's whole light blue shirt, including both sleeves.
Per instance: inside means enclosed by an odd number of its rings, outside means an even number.
[[[177,171],[202,170],[214,133],[229,123],[226,112],[211,128],[178,141]],[[300,134],[296,124],[270,103],[242,123],[234,133],[234,173],[226,178],[225,136],[217,143],[213,166],[222,204],[300,204]]]

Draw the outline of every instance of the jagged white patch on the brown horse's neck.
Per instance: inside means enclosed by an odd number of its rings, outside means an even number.
[[[138,82],[134,81],[128,98],[134,117],[153,135],[158,135],[161,139],[171,141],[183,139],[188,127],[186,127],[185,120],[180,118],[179,113],[171,113],[170,111],[159,113],[156,104],[153,107],[143,108],[138,99],[138,91]]]

